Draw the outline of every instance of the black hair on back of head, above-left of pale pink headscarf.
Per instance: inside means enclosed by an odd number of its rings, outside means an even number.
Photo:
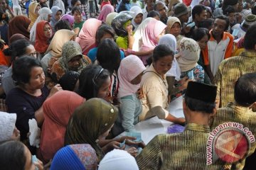
[[[117,72],[121,59],[119,47],[114,40],[105,39],[100,42],[97,49],[97,61],[110,74]]]

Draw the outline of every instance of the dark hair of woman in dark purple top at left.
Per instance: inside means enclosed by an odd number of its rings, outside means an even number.
[[[34,57],[24,56],[14,61],[12,78],[16,81],[16,85],[23,85],[29,82],[33,67],[42,67],[41,63]]]

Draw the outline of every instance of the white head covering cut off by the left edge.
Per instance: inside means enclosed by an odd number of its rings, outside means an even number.
[[[15,113],[0,112],[0,142],[11,140],[17,115]]]

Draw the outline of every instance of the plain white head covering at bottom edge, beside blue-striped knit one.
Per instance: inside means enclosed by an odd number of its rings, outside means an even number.
[[[112,170],[122,167],[122,170],[139,170],[134,157],[125,150],[114,149],[102,159],[98,170]]]

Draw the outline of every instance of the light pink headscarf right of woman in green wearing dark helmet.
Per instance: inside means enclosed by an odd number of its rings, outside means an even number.
[[[140,51],[149,51],[157,45],[157,37],[166,28],[166,25],[155,18],[149,21],[142,34],[142,47]]]

